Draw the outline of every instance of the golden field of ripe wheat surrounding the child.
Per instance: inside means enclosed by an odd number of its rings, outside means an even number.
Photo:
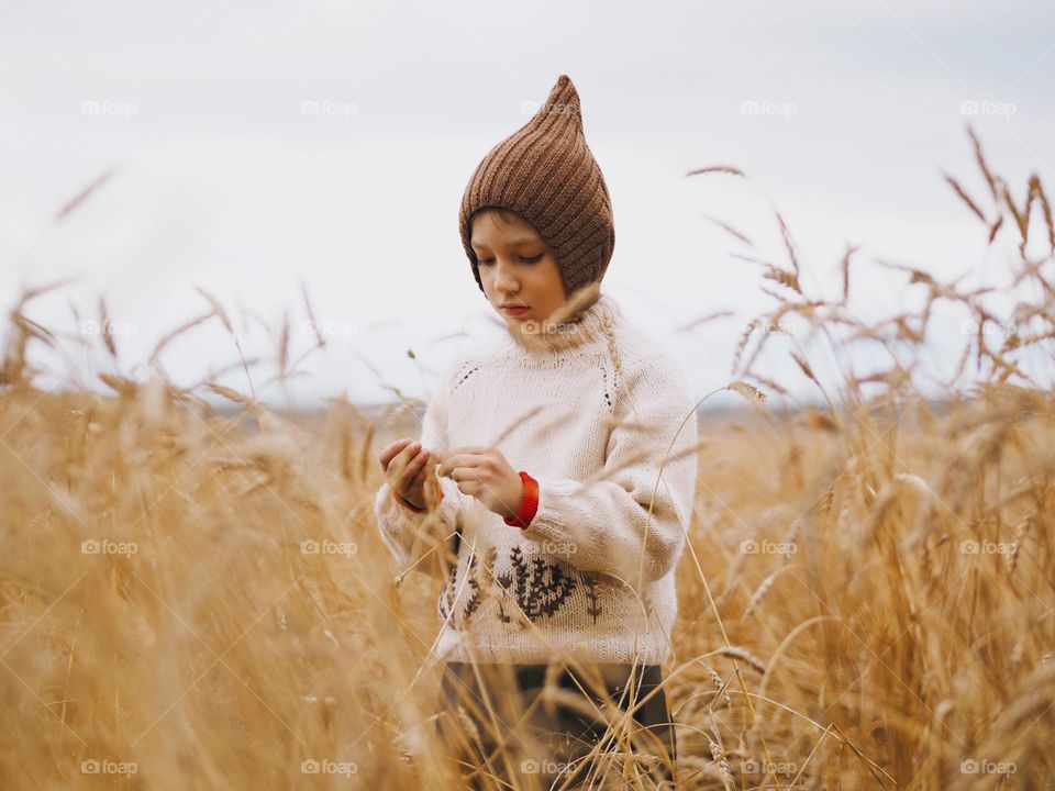
[[[981,190],[949,176],[951,200],[980,247],[1017,250],[1006,311],[853,248],[841,299],[810,294],[779,214],[782,263],[742,256],[775,307],[718,388],[742,412],[701,420],[665,668],[681,788],[1053,787],[1055,403],[1025,360],[1052,370],[1055,231],[1040,179],[1018,199],[970,136]],[[922,308],[854,316],[867,266],[902,269]],[[35,352],[66,343],[27,315],[46,289],[11,310],[0,370],[0,787],[460,788],[432,729],[437,583],[397,576],[371,510],[377,450],[413,404],[304,421],[156,370],[46,391]],[[235,335],[208,299],[153,358],[198,322]],[[942,304],[977,330],[954,371],[971,389],[935,400],[913,365]],[[790,316],[889,368],[833,383],[792,352],[824,405],[771,406],[787,383],[758,365],[757,327]],[[606,787],[652,788],[623,768]]]

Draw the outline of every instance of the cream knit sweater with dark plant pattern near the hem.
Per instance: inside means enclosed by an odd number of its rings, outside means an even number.
[[[440,454],[495,446],[535,478],[528,527],[441,478],[444,497],[425,513],[384,483],[374,503],[380,536],[402,568],[420,570],[430,539],[460,532],[435,604],[441,659],[664,664],[696,490],[693,401],[676,363],[607,294],[551,330],[541,346],[509,333],[459,359],[421,435]]]

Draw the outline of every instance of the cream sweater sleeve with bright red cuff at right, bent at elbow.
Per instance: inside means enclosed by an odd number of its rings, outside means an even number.
[[[636,587],[640,577],[669,573],[685,547],[699,438],[695,401],[673,359],[648,357],[625,386],[598,480],[533,476],[538,504],[523,531],[579,569]]]

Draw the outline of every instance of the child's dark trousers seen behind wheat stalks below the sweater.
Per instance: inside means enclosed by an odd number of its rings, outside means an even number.
[[[566,788],[588,781],[619,788],[625,786],[620,779],[628,754],[638,773],[674,787],[677,739],[658,665],[595,662],[581,671],[554,670],[562,699],[545,701],[545,665],[444,665],[436,729],[468,788],[509,788],[510,775],[528,788],[529,776],[542,788],[560,788],[568,778]],[[621,710],[610,712],[609,722],[606,697]],[[614,720],[632,706],[628,732]]]

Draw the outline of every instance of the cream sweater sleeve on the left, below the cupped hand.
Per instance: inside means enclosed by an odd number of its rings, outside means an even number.
[[[440,387],[429,400],[421,426],[421,445],[433,452],[429,464],[437,464],[436,454],[447,450],[447,402],[454,375],[462,368],[456,364],[443,378]],[[392,497],[392,488],[388,481],[381,483],[374,498],[374,514],[381,542],[391,553],[402,570],[413,569],[433,577],[443,578],[440,560],[440,549],[433,549],[438,543],[452,547],[454,533],[457,528],[464,494],[455,481],[448,478],[436,478],[443,491],[443,499],[434,503],[432,510],[420,513],[401,505]],[[422,556],[430,553],[422,560]]]

